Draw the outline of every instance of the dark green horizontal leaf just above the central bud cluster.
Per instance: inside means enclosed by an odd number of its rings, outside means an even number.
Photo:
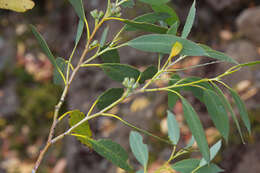
[[[140,75],[139,70],[126,64],[105,63],[101,65],[101,68],[106,75],[118,82],[123,82],[126,77],[137,80]]]

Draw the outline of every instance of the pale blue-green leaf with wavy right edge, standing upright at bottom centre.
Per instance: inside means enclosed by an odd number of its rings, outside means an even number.
[[[135,158],[146,169],[148,164],[148,147],[143,143],[143,137],[138,132],[131,131],[129,142]]]

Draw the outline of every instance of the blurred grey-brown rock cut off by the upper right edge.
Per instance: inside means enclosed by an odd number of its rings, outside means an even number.
[[[260,6],[244,10],[237,18],[238,31],[260,44]]]

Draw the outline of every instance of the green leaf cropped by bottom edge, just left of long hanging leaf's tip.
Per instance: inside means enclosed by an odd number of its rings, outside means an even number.
[[[200,161],[197,159],[185,159],[172,165],[172,169],[180,173],[191,173],[196,167],[198,167]]]

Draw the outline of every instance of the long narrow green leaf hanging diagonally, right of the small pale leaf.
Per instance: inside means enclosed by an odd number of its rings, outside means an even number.
[[[205,160],[209,162],[210,161],[209,147],[199,117],[185,98],[181,97],[181,100],[183,104],[184,117],[187,121],[189,129],[198,144],[199,150],[203,158],[205,158]]]

